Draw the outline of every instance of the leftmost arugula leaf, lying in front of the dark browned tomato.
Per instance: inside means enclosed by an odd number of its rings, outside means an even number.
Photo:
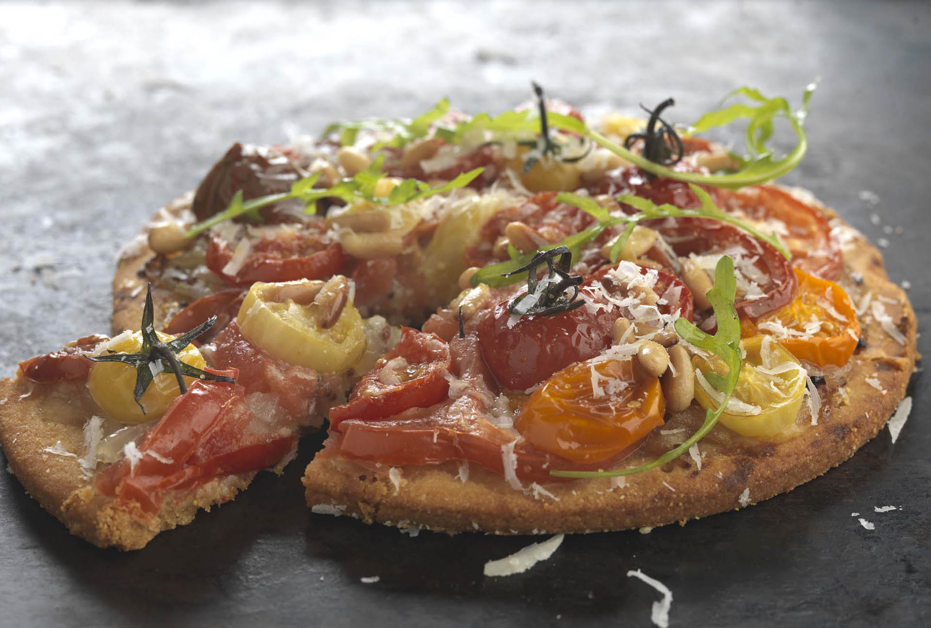
[[[320,178],[320,173],[315,172],[309,177],[305,177],[291,184],[290,192],[280,194],[271,194],[265,197],[252,198],[246,202],[242,201],[242,190],[238,190],[230,201],[229,206],[223,212],[210,216],[207,220],[197,223],[186,234],[185,238],[193,238],[199,233],[209,229],[213,225],[222,223],[224,220],[230,220],[243,214],[254,214],[258,218],[258,210],[266,205],[277,203],[281,200],[296,198],[304,201],[305,213],[317,212],[317,200],[320,198],[339,198],[346,203],[352,203],[357,200],[367,200],[374,205],[392,206],[409,203],[412,200],[432,197],[436,194],[449,192],[457,187],[465,187],[472,183],[472,180],[484,171],[484,168],[476,168],[468,172],[463,172],[447,184],[439,187],[430,187],[423,181],[417,179],[405,179],[401,181],[388,198],[376,197],[375,186],[385,178],[382,172],[382,166],[385,163],[385,156],[380,155],[364,171],[358,172],[354,177],[343,179],[332,187],[314,187]]]

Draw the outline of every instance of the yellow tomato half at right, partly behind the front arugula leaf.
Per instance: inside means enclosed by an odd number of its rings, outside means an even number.
[[[769,336],[756,335],[740,341],[746,357],[734,397],[721,416],[722,424],[743,436],[780,440],[795,425],[805,391],[807,374],[795,356]],[[717,408],[723,394],[711,387],[706,374],[727,375],[717,356],[695,355],[695,401],[703,408]]]

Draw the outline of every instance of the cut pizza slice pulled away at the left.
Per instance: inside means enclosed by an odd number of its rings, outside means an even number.
[[[363,321],[343,277],[257,283],[238,316],[181,336],[93,335],[20,362],[0,382],[0,444],[10,469],[76,535],[143,547],[280,472],[298,437],[396,341]]]

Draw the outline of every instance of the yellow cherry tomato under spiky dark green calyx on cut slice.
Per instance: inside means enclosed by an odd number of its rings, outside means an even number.
[[[168,342],[175,336],[157,332],[158,337]],[[110,349],[116,353],[136,353],[142,348],[142,333],[136,332],[122,342],[116,343]],[[180,362],[187,362],[191,366],[202,369],[207,366],[200,351],[194,345],[188,345],[175,354]],[[190,386],[194,377],[184,377],[184,382]],[[101,406],[101,410],[120,423],[144,423],[165,414],[175,397],[181,394],[178,380],[169,366],[152,380],[149,388],[142,393],[140,403],[142,408],[132,398],[132,391],[136,387],[136,369],[122,362],[95,362],[88,375],[88,389],[94,402]]]

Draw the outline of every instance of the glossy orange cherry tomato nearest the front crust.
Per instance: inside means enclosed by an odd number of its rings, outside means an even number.
[[[533,392],[514,427],[534,447],[578,463],[608,460],[663,425],[659,379],[633,360],[580,362]]]

